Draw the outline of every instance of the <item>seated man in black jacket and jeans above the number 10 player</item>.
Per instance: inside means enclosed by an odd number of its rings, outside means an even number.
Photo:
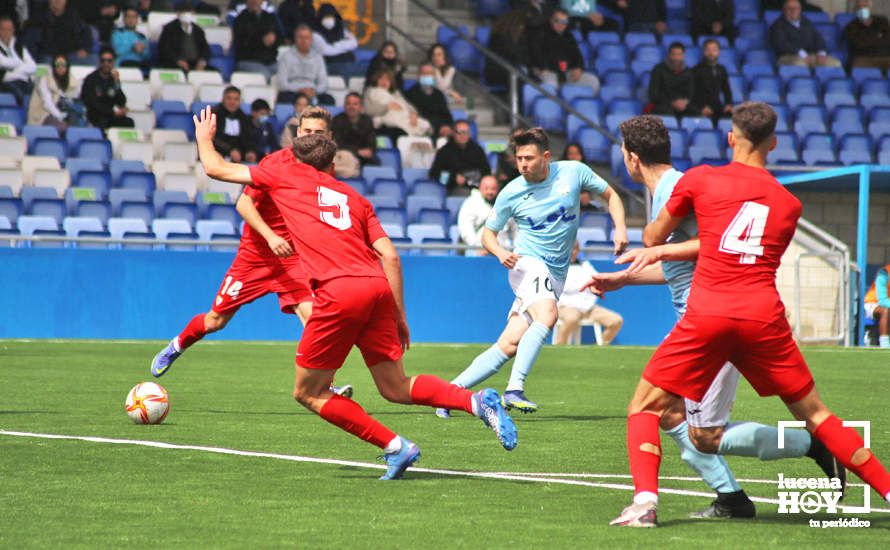
[[[584,72],[584,58],[575,37],[566,30],[568,25],[568,14],[562,9],[554,10],[550,25],[531,38],[529,67],[542,82],[588,86],[597,95],[599,78]]]

